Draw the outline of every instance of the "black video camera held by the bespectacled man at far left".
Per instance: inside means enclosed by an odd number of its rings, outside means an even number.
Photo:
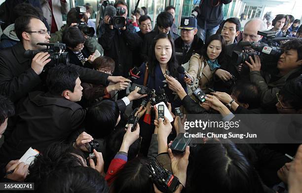
[[[66,45],[62,43],[38,43],[37,45],[46,46],[46,49],[43,51],[39,50],[27,50],[24,53],[24,56],[27,58],[33,58],[36,54],[40,52],[48,52],[50,55],[49,58],[51,59],[48,62],[43,72],[47,71],[48,69],[58,65],[58,64],[67,64],[69,63],[69,55],[68,52],[64,52],[66,49]]]

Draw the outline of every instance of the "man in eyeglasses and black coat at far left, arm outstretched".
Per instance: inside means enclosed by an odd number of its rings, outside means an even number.
[[[37,43],[49,42],[49,32],[39,18],[19,17],[15,22],[15,31],[21,42],[0,51],[0,94],[8,96],[17,103],[31,91],[45,90],[39,75],[51,59],[47,52],[40,52],[33,59],[24,56],[26,50],[43,51],[46,49],[46,46],[37,45]],[[123,77],[113,77],[79,66],[75,68],[82,82],[108,85],[109,82],[129,81]]]

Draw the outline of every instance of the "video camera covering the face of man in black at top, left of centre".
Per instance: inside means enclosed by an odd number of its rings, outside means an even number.
[[[105,16],[108,15],[110,17],[110,24],[113,25],[113,28],[123,28],[125,27],[126,19],[122,16],[126,13],[126,9],[122,7],[114,7],[109,5],[106,7]]]

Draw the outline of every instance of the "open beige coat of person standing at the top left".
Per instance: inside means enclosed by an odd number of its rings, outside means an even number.
[[[53,13],[57,28],[58,30],[60,30],[63,26],[62,14],[67,14],[69,10],[67,1],[62,2],[61,0],[51,0],[52,13],[48,4],[48,0],[40,0],[40,2],[42,6],[43,16],[46,18],[49,28],[51,29],[51,17]]]

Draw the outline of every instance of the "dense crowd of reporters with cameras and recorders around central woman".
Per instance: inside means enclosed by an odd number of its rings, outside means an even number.
[[[302,192],[300,144],[199,138],[171,150],[186,121],[176,108],[223,121],[302,113],[300,20],[279,14],[270,29],[250,19],[241,31],[239,19],[223,21],[230,1],[201,1],[178,27],[168,6],[152,29],[147,10],[127,18],[123,0],[103,3],[97,24],[89,5],[6,0],[14,14],[1,17],[0,181],[43,193]],[[159,118],[160,102],[173,122]],[[31,147],[34,161],[19,162]]]

